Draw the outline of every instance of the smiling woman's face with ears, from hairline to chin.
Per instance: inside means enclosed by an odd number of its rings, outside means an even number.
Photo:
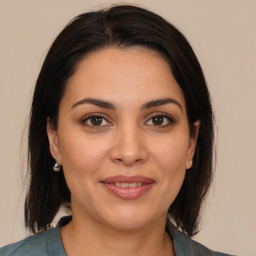
[[[48,122],[47,132],[72,214],[123,229],[166,218],[196,140],[169,65],[140,47],[87,55],[60,101],[57,130]]]

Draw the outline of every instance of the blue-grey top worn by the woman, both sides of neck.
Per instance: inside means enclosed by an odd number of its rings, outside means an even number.
[[[59,228],[71,220],[62,217],[58,224],[49,230],[30,235],[25,239],[0,248],[0,256],[66,256]],[[176,256],[231,256],[208,249],[177,230],[167,218],[166,231],[173,240]]]

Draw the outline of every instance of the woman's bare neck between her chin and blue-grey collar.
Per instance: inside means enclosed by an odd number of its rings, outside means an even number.
[[[145,227],[132,230],[112,228],[73,214],[60,228],[67,256],[71,255],[174,255],[172,241],[160,217]]]

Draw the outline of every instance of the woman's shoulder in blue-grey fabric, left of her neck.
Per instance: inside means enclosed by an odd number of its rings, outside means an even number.
[[[38,232],[25,239],[0,248],[1,256],[65,256],[59,226]]]

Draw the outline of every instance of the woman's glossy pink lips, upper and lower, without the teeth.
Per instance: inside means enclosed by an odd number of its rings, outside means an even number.
[[[140,195],[147,192],[151,186],[155,183],[154,180],[147,178],[145,176],[135,175],[135,176],[123,176],[117,175],[108,177],[100,181],[102,185],[114,195],[123,199],[135,199]],[[109,183],[133,183],[141,182],[142,184],[137,187],[119,187],[114,184]]]

